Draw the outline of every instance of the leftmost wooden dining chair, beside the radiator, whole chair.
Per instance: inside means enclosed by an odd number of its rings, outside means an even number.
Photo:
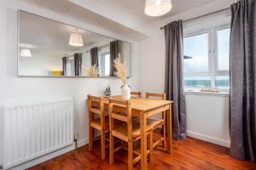
[[[101,133],[102,160],[106,158],[106,131],[108,132],[108,116],[105,116],[103,98],[88,95],[89,110],[89,150],[92,150],[94,129]],[[95,117],[98,116],[98,118]]]

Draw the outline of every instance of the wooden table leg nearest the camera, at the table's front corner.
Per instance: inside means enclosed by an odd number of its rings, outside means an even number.
[[[147,116],[144,112],[140,113],[141,127],[141,169],[147,170]]]

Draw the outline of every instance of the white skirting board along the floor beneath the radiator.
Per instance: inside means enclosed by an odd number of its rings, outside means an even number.
[[[81,147],[85,144],[88,144],[89,143],[89,139],[86,138],[86,139],[80,139],[78,141],[78,147]],[[10,170],[20,170],[20,169],[26,169],[26,168],[29,168],[29,167],[33,167],[35,165],[38,165],[39,163],[42,163],[44,161],[48,161],[52,158],[55,158],[56,156],[61,156],[62,154],[65,154],[71,150],[75,150],[75,144],[71,145],[71,146],[67,146],[66,148],[63,148],[61,150],[57,150],[55,152],[52,152],[50,154],[47,154],[45,156],[41,156],[41,157],[38,157],[37,159],[34,159],[32,161],[28,161],[26,163],[23,163],[17,167],[13,167],[11,168]],[[1,168],[0,168],[1,169]]]

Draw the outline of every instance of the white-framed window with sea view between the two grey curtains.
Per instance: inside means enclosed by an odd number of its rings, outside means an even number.
[[[230,88],[230,27],[213,27],[183,39],[186,90]]]

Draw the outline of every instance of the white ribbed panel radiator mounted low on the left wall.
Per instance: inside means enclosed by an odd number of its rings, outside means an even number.
[[[0,111],[0,166],[3,169],[73,144],[71,98],[5,104]]]

